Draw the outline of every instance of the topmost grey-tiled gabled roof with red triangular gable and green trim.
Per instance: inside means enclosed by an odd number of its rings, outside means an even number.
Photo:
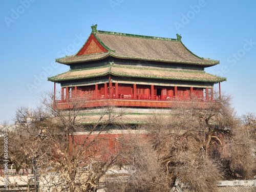
[[[97,30],[92,26],[92,33],[77,54],[56,59],[57,62],[71,65],[77,62],[99,60],[106,57],[121,59],[175,62],[210,67],[218,60],[199,57],[189,51],[177,39],[143,35],[133,35]]]

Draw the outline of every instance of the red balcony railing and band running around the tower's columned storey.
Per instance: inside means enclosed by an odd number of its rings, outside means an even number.
[[[167,95],[155,95],[152,98],[150,95],[124,95],[119,94],[117,97],[75,97],[63,100],[56,100],[55,106],[57,109],[71,109],[71,108],[94,108],[104,106],[123,106],[123,107],[144,107],[144,108],[172,108],[174,106],[181,106],[191,103],[191,98],[185,97],[171,97]],[[196,103],[198,108],[205,108],[207,103],[214,102],[210,98],[193,98],[193,103]]]

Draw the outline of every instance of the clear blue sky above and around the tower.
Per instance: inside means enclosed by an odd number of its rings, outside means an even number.
[[[55,58],[75,54],[99,30],[176,38],[198,56],[220,60],[208,73],[239,115],[256,112],[256,2],[187,0],[1,0],[0,123],[18,106],[34,107],[54,76],[69,70]],[[216,84],[215,88],[218,88]]]

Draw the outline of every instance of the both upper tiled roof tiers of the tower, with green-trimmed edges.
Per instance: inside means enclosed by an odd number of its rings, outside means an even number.
[[[201,82],[221,82],[226,78],[208,74],[204,71],[167,69],[170,63],[182,63],[182,65],[193,65],[210,67],[217,65],[218,60],[199,57],[189,51],[182,43],[181,36],[177,39],[133,35],[97,30],[97,25],[92,26],[92,33],[82,48],[71,56],[56,59],[65,65],[76,65],[80,62],[101,60],[106,57],[157,61],[166,69],[157,67],[144,68],[139,66],[117,65],[115,60],[103,67],[70,70],[66,73],[48,78],[50,81],[60,82],[66,80],[86,79],[92,77],[112,74],[115,76],[127,76],[135,78],[151,78],[166,80],[185,80]]]

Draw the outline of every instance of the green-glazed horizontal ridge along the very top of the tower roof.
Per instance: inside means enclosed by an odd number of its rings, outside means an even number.
[[[137,38],[145,38],[145,39],[155,39],[155,40],[180,41],[176,38],[156,37],[156,36],[147,36],[147,35],[136,35],[136,34],[131,34],[131,33],[120,33],[120,32],[112,32],[112,31],[96,30],[93,33],[108,34],[108,35],[119,35],[119,36],[126,36],[126,37],[137,37]]]

